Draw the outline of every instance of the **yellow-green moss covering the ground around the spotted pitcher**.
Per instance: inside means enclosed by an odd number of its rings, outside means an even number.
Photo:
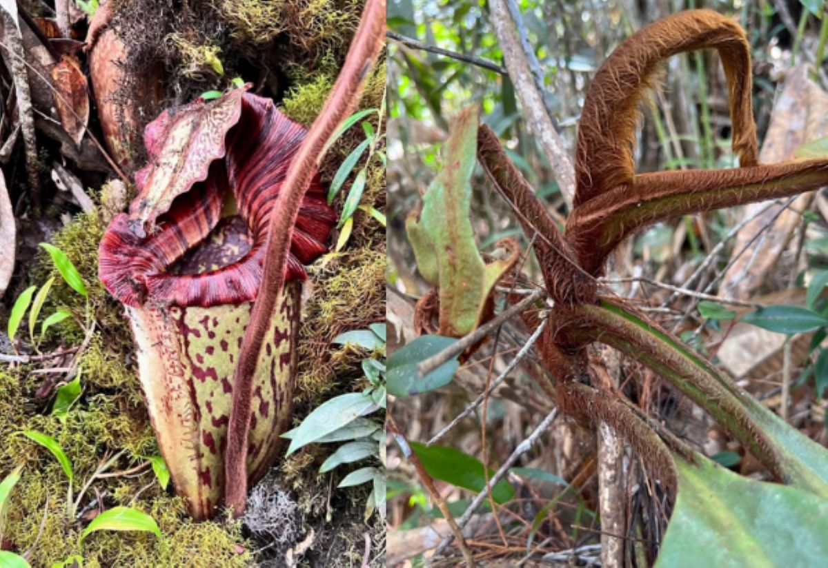
[[[191,4],[191,5],[190,5]],[[209,88],[228,86],[240,75],[256,81],[251,69],[263,70],[262,91],[277,100],[291,117],[310,124],[330,93],[348,48],[348,38],[359,21],[361,2],[355,0],[285,0],[265,2],[168,2],[140,0],[115,2],[116,23],[132,22],[126,40],[135,47],[135,65],[164,64],[175,77],[169,85],[171,101],[183,103]],[[271,13],[273,12],[273,13]],[[276,17],[271,17],[277,14]],[[207,15],[205,17],[205,15]],[[266,17],[267,16],[267,17]],[[161,21],[161,24],[159,24]],[[175,28],[175,30],[173,30]],[[178,34],[176,36],[175,34]],[[184,40],[189,43],[185,43]],[[132,41],[132,44],[130,44]],[[190,49],[190,60],[185,49]],[[210,64],[212,53],[223,73]],[[276,55],[274,55],[276,54]],[[269,58],[265,60],[265,58]],[[185,73],[190,69],[191,73]],[[359,104],[379,108],[384,96],[385,67],[379,65],[368,79]],[[367,120],[378,129],[378,116]],[[344,157],[363,140],[354,126],[331,148],[320,175],[330,184]],[[363,159],[364,160],[364,159]],[[353,174],[333,203],[342,208]],[[374,159],[368,165],[361,203],[383,211],[384,167]],[[86,284],[88,299],[66,285],[45,254],[21,266],[21,278],[43,284],[55,276],[55,285],[43,313],[58,308],[72,317],[52,327],[41,341],[43,352],[60,347],[86,347],[79,355],[83,394],[65,423],[51,416],[51,401],[38,398],[44,380],[35,374],[43,365],[3,364],[0,371],[0,477],[18,464],[22,479],[12,492],[2,547],[28,551],[31,566],[51,566],[70,556],[84,557],[84,566],[282,566],[274,551],[258,551],[267,543],[254,542],[240,523],[218,519],[192,523],[184,504],[172,489],[163,490],[152,470],[95,480],[79,508],[86,517],[67,518],[67,480],[48,451],[19,432],[44,432],[63,446],[75,469],[75,499],[90,475],[103,461],[123,452],[108,473],[123,473],[157,454],[152,426],[137,381],[132,338],[123,308],[108,296],[97,279],[97,252],[105,215],[81,214],[57,233],[51,242],[70,257]],[[333,236],[333,242],[337,235]],[[339,253],[317,260],[309,268],[309,282],[301,332],[301,361],[296,395],[295,422],[326,399],[353,391],[359,385],[359,361],[353,350],[332,349],[340,332],[367,327],[385,318],[385,229],[373,217],[358,211],[354,231]],[[13,298],[12,298],[13,300]],[[12,300],[7,298],[7,303]],[[94,333],[86,337],[84,324],[94,320]],[[3,327],[5,327],[5,322]],[[26,327],[25,322],[22,327]],[[60,375],[57,375],[60,376]],[[42,390],[42,389],[41,389]],[[319,465],[332,448],[310,446],[280,465],[282,484],[293,491],[305,519],[306,534],[315,538],[300,566],[359,566],[364,534],[372,538],[371,566],[383,564],[384,522],[373,515],[363,521],[368,490],[335,489],[344,473],[319,475]],[[149,533],[97,532],[83,542],[80,532],[94,512],[97,499],[111,507],[131,505],[152,514],[163,540]],[[276,564],[268,564],[275,561]]]

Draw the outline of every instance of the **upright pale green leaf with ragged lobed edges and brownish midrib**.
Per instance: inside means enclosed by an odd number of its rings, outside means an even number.
[[[406,220],[406,232],[423,278],[440,288],[440,331],[462,337],[477,327],[489,294],[517,260],[487,265],[477,250],[470,215],[469,179],[477,163],[478,110],[460,112],[442,149],[443,168],[423,196],[421,212]]]

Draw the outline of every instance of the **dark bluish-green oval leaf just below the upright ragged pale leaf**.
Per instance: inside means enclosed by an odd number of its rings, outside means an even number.
[[[460,367],[457,357],[446,361],[424,377],[417,376],[416,365],[456,342],[454,337],[421,336],[394,351],[388,357],[388,393],[394,396],[413,396],[449,384]]]

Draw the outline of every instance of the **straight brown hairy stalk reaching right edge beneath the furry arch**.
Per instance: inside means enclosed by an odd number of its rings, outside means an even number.
[[[689,213],[788,197],[828,185],[828,159],[718,170],[666,171],[635,176],[576,208],[566,238],[581,267],[599,274],[624,238],[654,222]]]

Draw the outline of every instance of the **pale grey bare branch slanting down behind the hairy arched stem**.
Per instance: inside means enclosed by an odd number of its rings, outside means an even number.
[[[575,169],[572,160],[564,148],[561,136],[558,136],[555,126],[546,114],[543,98],[532,80],[532,71],[517,39],[517,30],[512,17],[509,16],[505,1],[492,0],[489,7],[492,11],[494,35],[497,36],[498,45],[503,51],[506,69],[515,86],[517,98],[520,99],[529,129],[537,136],[538,143],[549,160],[552,173],[555,174],[558,187],[561,188],[566,206],[571,210],[572,199],[575,196]]]

